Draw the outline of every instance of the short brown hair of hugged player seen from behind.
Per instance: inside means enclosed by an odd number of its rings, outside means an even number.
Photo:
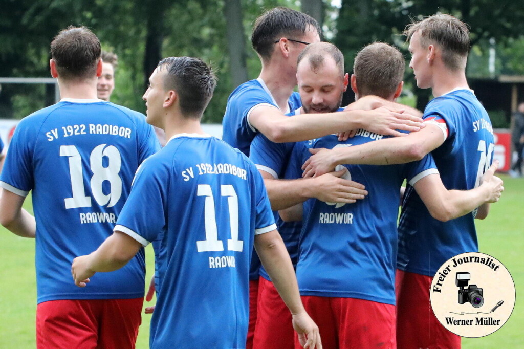
[[[353,64],[358,93],[388,99],[404,77],[406,61],[402,53],[384,42],[375,42],[358,52]]]

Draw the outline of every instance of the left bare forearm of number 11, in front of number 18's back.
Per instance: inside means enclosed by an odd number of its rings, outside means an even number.
[[[73,259],[71,274],[75,285],[85,287],[95,272],[114,271],[131,260],[142,245],[122,232],[114,232],[94,252]]]

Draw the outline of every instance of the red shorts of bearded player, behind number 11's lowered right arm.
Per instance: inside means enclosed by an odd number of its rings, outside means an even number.
[[[254,349],[293,348],[294,330],[292,316],[280,298],[275,285],[260,277],[258,281],[258,310]]]

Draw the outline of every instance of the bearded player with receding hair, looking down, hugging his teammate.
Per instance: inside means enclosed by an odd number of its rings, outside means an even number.
[[[314,67],[310,66],[309,60],[302,60],[303,57],[308,57],[311,52],[317,58],[314,61]],[[323,64],[326,60],[330,60],[330,63]],[[299,54],[297,70],[302,107],[288,115],[332,113],[339,110],[342,94],[348,84],[348,75],[344,74],[343,56],[339,49],[328,42],[312,43]],[[276,210],[288,208],[309,198],[318,198],[321,201],[328,202],[350,203],[355,202],[355,199],[363,199],[367,192],[363,186],[362,189],[359,189],[359,184],[342,178],[337,179],[338,182],[326,180],[326,176],[332,176],[331,174],[324,174],[324,176],[316,178],[281,181],[280,179],[286,179],[286,168],[294,144],[292,142],[273,143],[266,136],[258,133],[251,143],[249,158],[256,163],[258,170],[264,177],[271,208],[275,210],[278,232],[286,244],[293,266],[296,266],[298,238],[302,224],[301,222],[283,222]],[[343,169],[335,175],[341,177],[345,172],[346,170]],[[347,186],[346,183],[351,184],[351,187]],[[289,189],[293,186],[303,186],[307,190],[297,195]],[[332,186],[335,188],[332,188]],[[336,189],[336,187],[340,189]],[[345,191],[347,187],[355,190],[355,192],[347,193]],[[330,194],[333,197],[327,196]],[[260,268],[259,285],[253,347],[292,348],[294,343],[293,328],[289,320],[284,321],[291,315],[278,296],[264,267]],[[289,322],[289,325],[287,325],[287,322]]]

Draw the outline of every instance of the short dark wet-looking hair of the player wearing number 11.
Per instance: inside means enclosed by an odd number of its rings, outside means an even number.
[[[177,92],[180,110],[189,118],[200,118],[215,90],[216,77],[211,66],[200,58],[169,57],[158,63],[166,69],[163,85]]]

